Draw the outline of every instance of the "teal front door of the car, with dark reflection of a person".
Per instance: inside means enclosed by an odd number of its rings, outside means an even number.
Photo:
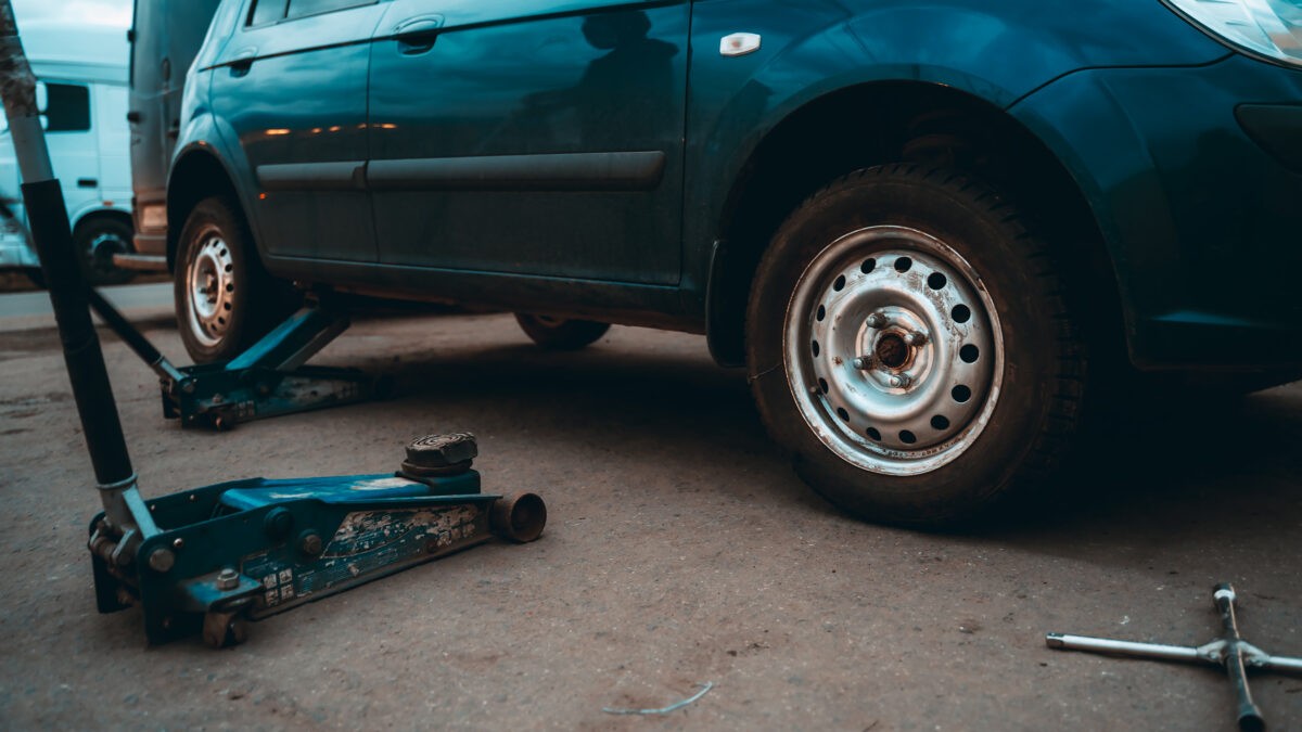
[[[676,283],[689,9],[393,0],[371,47],[381,262]]]

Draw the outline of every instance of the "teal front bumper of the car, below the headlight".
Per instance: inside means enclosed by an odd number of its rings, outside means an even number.
[[[1221,339],[1260,346],[1256,363],[1295,362],[1288,333],[1302,302],[1232,272],[1243,262],[1302,264],[1293,245],[1302,177],[1236,120],[1246,100],[1299,99],[1302,72],[1232,56],[1193,69],[1085,70],[1012,109],[1087,191],[1126,300],[1135,362],[1233,363],[1234,354],[1211,348]]]

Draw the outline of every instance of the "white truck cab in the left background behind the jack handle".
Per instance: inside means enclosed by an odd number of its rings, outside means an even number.
[[[86,275],[92,284],[126,281],[132,272],[113,266],[113,254],[133,251],[126,31],[39,21],[18,31],[39,81],[49,159],[64,189],[73,240],[86,253]],[[18,164],[3,117],[0,128],[0,268],[26,270],[39,281],[40,262],[27,238]]]

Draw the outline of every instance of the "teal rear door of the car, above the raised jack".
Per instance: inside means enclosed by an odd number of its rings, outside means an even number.
[[[249,0],[212,74],[238,135],[259,241],[280,257],[374,262],[366,194],[366,73],[387,5]]]

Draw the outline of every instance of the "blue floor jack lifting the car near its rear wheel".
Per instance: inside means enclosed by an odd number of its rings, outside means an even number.
[[[182,427],[228,430],[238,422],[383,397],[385,379],[357,369],[303,366],[349,326],[315,297],[229,363],[173,366],[99,293],[91,307],[158,375],[163,415]]]

